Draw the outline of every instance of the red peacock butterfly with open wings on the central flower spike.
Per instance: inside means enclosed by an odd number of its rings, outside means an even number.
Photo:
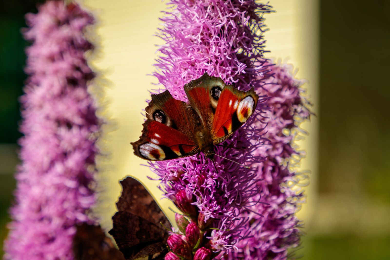
[[[241,91],[221,78],[204,73],[184,85],[188,103],[168,90],[153,94],[134,154],[151,161],[170,160],[203,152],[213,159],[214,145],[222,143],[253,114],[259,96]]]

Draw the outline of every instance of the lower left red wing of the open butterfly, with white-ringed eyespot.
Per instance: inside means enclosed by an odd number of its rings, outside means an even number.
[[[140,140],[133,145],[134,154],[151,161],[169,160],[191,156],[199,147],[186,134],[165,124],[146,120]]]

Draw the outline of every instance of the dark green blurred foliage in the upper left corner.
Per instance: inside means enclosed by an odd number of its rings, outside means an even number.
[[[20,111],[18,97],[21,96],[26,75],[24,49],[28,42],[20,29],[26,27],[24,15],[36,12],[42,0],[1,1],[0,8],[0,143],[16,143]]]

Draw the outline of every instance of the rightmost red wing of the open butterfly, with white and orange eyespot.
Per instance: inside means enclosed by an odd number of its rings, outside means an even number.
[[[225,141],[254,113],[259,96],[252,88],[241,91],[230,85],[223,88],[211,127],[214,144]]]

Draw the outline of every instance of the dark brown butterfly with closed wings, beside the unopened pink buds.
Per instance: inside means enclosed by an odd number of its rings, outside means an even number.
[[[167,253],[167,230],[171,225],[153,197],[137,180],[127,177],[121,181],[122,195],[118,212],[112,217],[110,234],[126,260],[149,256],[163,259]]]

